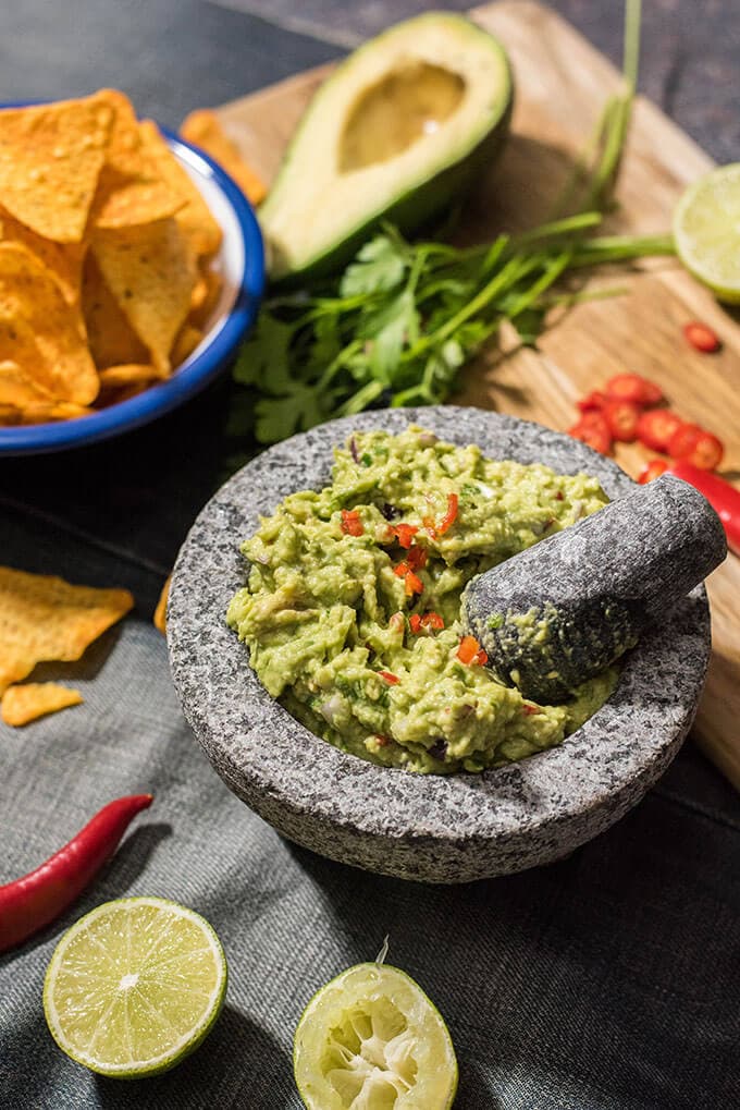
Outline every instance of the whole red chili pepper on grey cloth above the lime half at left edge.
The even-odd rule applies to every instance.
[[[131,819],[151,804],[151,794],[111,801],[45,864],[0,887],[0,952],[63,914],[113,855]]]

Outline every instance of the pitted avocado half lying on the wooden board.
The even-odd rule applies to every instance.
[[[409,233],[498,153],[513,104],[506,51],[427,12],[351,54],[306,109],[260,209],[273,281],[341,269],[381,220]]]

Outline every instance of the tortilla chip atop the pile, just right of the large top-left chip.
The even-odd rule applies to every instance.
[[[174,215],[187,196],[160,172],[145,149],[131,101],[114,89],[101,89],[97,95],[111,109],[113,127],[93,204],[93,225],[131,228]]]

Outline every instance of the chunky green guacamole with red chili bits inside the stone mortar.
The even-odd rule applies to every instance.
[[[458,657],[466,583],[601,508],[596,478],[488,460],[415,426],[353,435],[332,474],[262,518],[227,613],[293,716],[363,759],[445,774],[553,747],[600,708],[614,667],[540,706]]]

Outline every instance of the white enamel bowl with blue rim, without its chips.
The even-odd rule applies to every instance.
[[[265,283],[262,233],[254,211],[239,186],[212,159],[173,132],[163,128],[162,133],[223,231],[221,249],[213,260],[223,287],[202,342],[171,377],[129,401],[77,420],[0,427],[0,455],[87,446],[163,416],[217,377],[254,323]]]

